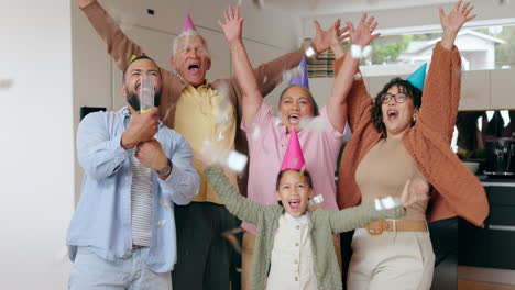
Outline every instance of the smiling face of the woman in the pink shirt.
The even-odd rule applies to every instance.
[[[284,91],[280,102],[281,121],[291,131],[298,131],[303,118],[314,116],[314,104],[309,91],[300,86],[292,86]]]

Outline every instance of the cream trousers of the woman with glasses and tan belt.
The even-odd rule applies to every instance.
[[[383,232],[358,228],[352,238],[349,290],[418,289],[431,286],[435,268],[429,232]]]

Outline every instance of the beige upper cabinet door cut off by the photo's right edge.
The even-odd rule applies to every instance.
[[[490,109],[515,109],[515,69],[491,70]]]

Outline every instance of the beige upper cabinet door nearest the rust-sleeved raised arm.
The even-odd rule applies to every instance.
[[[490,71],[463,71],[461,76],[459,110],[485,110],[490,108]]]

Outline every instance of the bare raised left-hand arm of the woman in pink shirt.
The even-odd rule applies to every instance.
[[[249,55],[241,38],[243,18],[240,18],[240,7],[234,7],[234,10],[229,7],[223,14],[226,23],[218,21],[218,24],[222,27],[231,48],[232,67],[240,83],[242,96],[242,121],[245,126],[250,126],[260,110],[263,96],[258,88],[258,81],[252,70]]]

